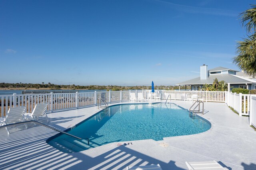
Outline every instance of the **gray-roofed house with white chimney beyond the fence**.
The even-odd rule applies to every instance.
[[[208,66],[200,66],[200,77],[187,80],[176,85],[185,86],[186,90],[202,90],[204,84],[212,84],[214,79],[225,81],[228,91],[232,88],[256,89],[256,78],[238,70],[224,67],[216,67],[208,70]]]

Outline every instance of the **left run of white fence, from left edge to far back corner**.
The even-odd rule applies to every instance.
[[[48,111],[95,106],[98,99],[108,103],[130,100],[131,91],[85,92],[85,93],[48,93],[0,95],[0,117],[4,117],[10,107],[27,106],[31,113],[40,103],[48,103]],[[134,90],[135,92],[135,90]]]

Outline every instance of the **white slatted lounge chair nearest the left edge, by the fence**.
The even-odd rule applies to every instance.
[[[6,113],[5,119],[3,120],[3,124],[8,125],[11,123],[23,122],[24,121],[24,113],[26,111],[27,111],[26,106],[10,107],[10,109]],[[26,129],[28,128],[26,124],[25,124],[25,127],[26,127]],[[10,134],[8,128],[9,127],[6,127],[6,131],[8,134]]]

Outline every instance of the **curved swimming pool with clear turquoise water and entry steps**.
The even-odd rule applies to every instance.
[[[210,129],[205,119],[192,119],[176,104],[122,104],[110,106],[90,117],[68,133],[86,140],[60,135],[48,144],[63,152],[78,152],[108,143],[191,135]]]

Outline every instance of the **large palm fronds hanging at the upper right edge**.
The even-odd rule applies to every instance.
[[[241,22],[248,33],[243,41],[238,41],[236,47],[237,56],[233,63],[247,74],[256,75],[256,5],[240,14]]]

